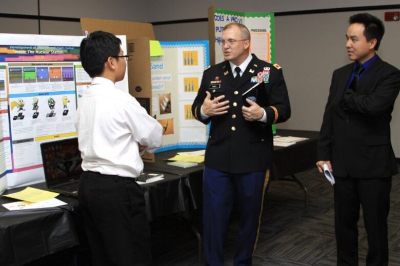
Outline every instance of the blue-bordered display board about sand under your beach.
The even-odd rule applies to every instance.
[[[151,57],[152,113],[163,126],[163,146],[205,148],[208,127],[194,119],[193,100],[209,65],[208,40],[160,42],[164,55]]]

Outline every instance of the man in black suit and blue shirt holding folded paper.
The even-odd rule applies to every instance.
[[[346,49],[354,63],[333,72],[318,139],[317,167],[335,176],[337,265],[358,265],[360,204],[368,235],[367,265],[388,265],[387,217],[397,165],[390,120],[400,89],[400,71],[378,50],[385,28],[370,14],[349,19]]]

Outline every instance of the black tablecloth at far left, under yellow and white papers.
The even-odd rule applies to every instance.
[[[31,187],[44,189],[45,184]],[[4,194],[22,189],[7,190]],[[0,265],[22,265],[79,244],[79,230],[72,217],[77,200],[62,196],[58,198],[68,205],[20,211],[8,211],[0,206]],[[0,197],[0,205],[14,201]]]

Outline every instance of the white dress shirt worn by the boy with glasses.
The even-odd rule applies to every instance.
[[[138,144],[156,149],[162,126],[129,93],[95,77],[76,111],[82,169],[107,175],[137,177],[143,171]]]

